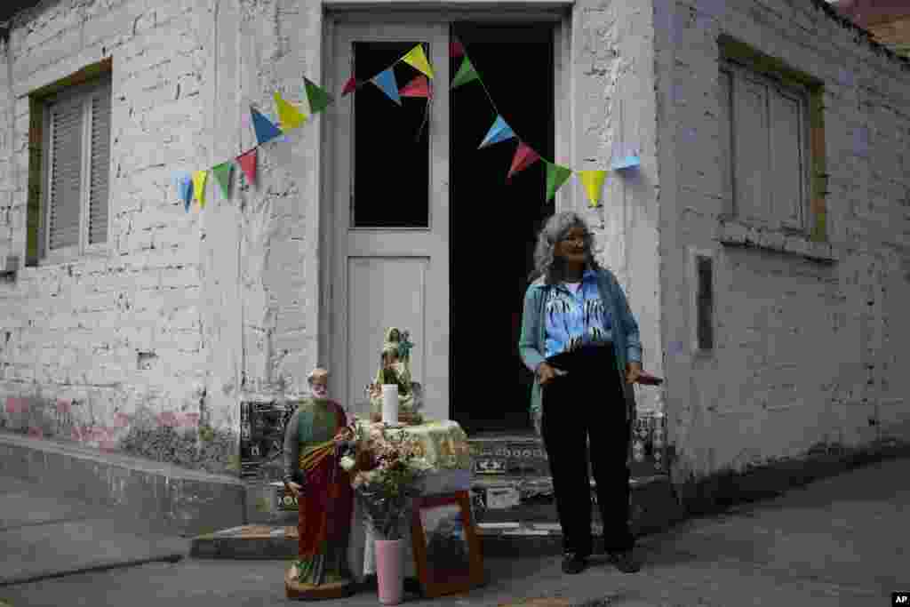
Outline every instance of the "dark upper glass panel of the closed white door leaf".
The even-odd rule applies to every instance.
[[[417,42],[353,43],[354,76],[365,82],[391,66]],[[430,57],[426,43],[424,53]],[[420,76],[399,61],[392,67],[399,90]],[[353,228],[430,226],[430,123],[425,97],[400,97],[398,106],[372,83],[354,93]]]

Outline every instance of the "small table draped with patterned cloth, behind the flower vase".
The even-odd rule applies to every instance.
[[[370,423],[358,420],[364,429]],[[425,420],[419,426],[388,428],[389,436],[405,432],[417,441],[422,456],[430,462],[432,470],[424,477],[420,492],[422,495],[436,495],[454,491],[470,491],[471,459],[468,435],[453,420]],[[404,576],[417,577],[414,551],[410,539],[410,518],[402,525],[401,539],[404,548]],[[349,563],[351,572],[362,581],[376,573],[376,552],[372,526],[369,525],[359,501],[354,502],[350,531]]]

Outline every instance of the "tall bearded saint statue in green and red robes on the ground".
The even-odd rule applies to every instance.
[[[285,576],[289,599],[348,596],[354,582],[348,541],[354,493],[339,466],[349,440],[348,417],[329,399],[329,372],[314,369],[310,397],[300,400],[285,430],[284,482],[298,499],[298,560]]]

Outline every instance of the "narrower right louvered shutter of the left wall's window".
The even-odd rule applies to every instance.
[[[91,164],[88,183],[88,244],[107,241],[108,180],[110,174],[110,90],[101,89],[91,98]]]

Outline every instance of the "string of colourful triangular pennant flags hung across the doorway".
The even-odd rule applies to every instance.
[[[460,68],[451,81],[451,88],[455,89],[459,86],[477,82],[482,86],[484,94],[490,101],[490,106],[492,106],[496,113],[496,119],[493,121],[492,126],[490,126],[487,135],[483,137],[478,149],[483,149],[484,147],[489,147],[511,139],[516,139],[518,141],[518,147],[512,157],[511,167],[509,168],[506,182],[511,183],[512,177],[516,174],[527,167],[531,167],[534,163],[541,161],[546,165],[546,200],[548,202],[556,195],[557,190],[569,180],[572,174],[577,173],[591,207],[600,206],[601,192],[608,171],[603,169],[572,170],[569,167],[562,167],[555,162],[551,162],[550,160],[541,157],[540,154],[532,149],[515,133],[514,130],[512,130],[512,127],[506,122],[505,118],[501,116],[499,110],[496,109],[496,105],[493,103],[490,93],[487,91],[487,87],[484,86],[480,74],[478,74],[477,69],[471,63],[464,46],[457,39],[450,44],[450,56],[455,58],[463,57]],[[401,62],[413,67],[420,72],[420,75],[415,76],[408,84],[399,88],[395,74],[392,70]],[[434,74],[432,66],[430,66],[430,61],[424,53],[423,46],[419,44],[410,49],[405,55],[399,57],[397,61],[379,72],[379,74],[369,78],[369,80],[359,81],[354,76],[351,76],[348,82],[342,87],[341,96],[347,96],[349,93],[355,92],[361,86],[372,84],[377,86],[392,102],[399,106],[401,105],[401,97],[424,97],[428,101],[429,112],[429,103],[433,98],[433,89],[430,80],[432,80],[433,77]],[[309,111],[312,114],[318,114],[319,112],[324,111],[334,102],[333,96],[307,77],[304,77],[304,92],[308,100]],[[256,134],[257,141],[254,147],[242,152],[231,160],[221,162],[209,169],[197,170],[192,173],[187,171],[180,171],[177,173],[174,177],[177,185],[177,195],[184,203],[184,208],[187,212],[189,212],[189,207],[192,205],[193,200],[198,202],[200,209],[205,208],[206,184],[209,172],[214,176],[224,197],[229,198],[235,163],[240,167],[244,177],[246,177],[247,183],[255,183],[258,147],[307,123],[309,116],[304,109],[288,102],[278,92],[274,94],[274,100],[275,113],[278,115],[278,124],[269,120],[268,116],[263,115],[255,107],[250,106],[249,108],[250,122]],[[618,161],[613,162],[611,170],[624,171],[638,167],[639,164],[640,161],[637,155],[626,155]]]

